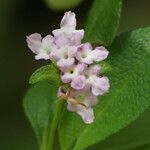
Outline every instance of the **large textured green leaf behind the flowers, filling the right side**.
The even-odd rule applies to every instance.
[[[134,121],[150,105],[150,28],[138,29],[115,39],[109,48],[110,92],[100,97],[95,121],[64,112],[59,126],[61,147],[82,150],[96,144]],[[69,139],[69,141],[68,141]]]

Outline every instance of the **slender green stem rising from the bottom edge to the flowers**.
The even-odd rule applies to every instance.
[[[56,134],[57,126],[58,126],[58,123],[62,114],[63,103],[64,103],[63,100],[58,100],[56,102],[54,118],[51,123],[50,132],[49,132],[48,141],[47,141],[47,150],[53,150],[55,134]]]

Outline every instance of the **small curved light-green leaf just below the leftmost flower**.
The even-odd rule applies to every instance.
[[[53,64],[43,66],[37,69],[30,77],[29,83],[35,84],[40,81],[48,81],[49,83],[59,86],[61,83],[60,72]]]

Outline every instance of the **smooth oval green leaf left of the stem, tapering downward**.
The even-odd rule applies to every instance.
[[[57,89],[47,82],[39,82],[31,87],[24,97],[25,114],[32,124],[39,144],[42,143],[49,118],[53,114]]]

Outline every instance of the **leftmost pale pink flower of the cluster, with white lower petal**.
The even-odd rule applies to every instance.
[[[27,36],[28,47],[36,54],[35,59],[49,59],[49,54],[54,47],[54,38],[51,35],[45,36],[43,39],[40,34],[34,33]]]

